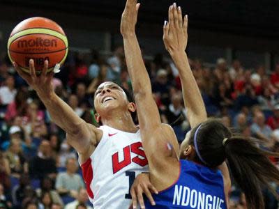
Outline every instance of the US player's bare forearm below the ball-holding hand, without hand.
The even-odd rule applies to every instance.
[[[73,109],[71,109],[66,102],[61,100],[54,92],[48,95],[38,93],[38,96],[43,104],[45,104],[47,111],[50,112],[50,117],[56,125],[69,134],[77,134],[79,126],[84,123],[84,121],[75,114]]]

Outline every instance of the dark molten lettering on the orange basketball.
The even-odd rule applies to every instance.
[[[30,40],[19,40],[17,42],[18,48],[26,48],[26,47],[57,47],[57,41],[55,39],[43,39],[36,38]]]

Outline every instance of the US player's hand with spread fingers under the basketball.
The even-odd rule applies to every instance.
[[[17,73],[38,94],[49,95],[52,91],[54,91],[52,86],[52,77],[54,72],[47,73],[48,61],[44,62],[43,71],[40,73],[40,75],[36,74],[34,61],[32,59],[29,61],[30,74],[23,72],[15,62],[13,62],[13,66],[15,70],[17,70]]]

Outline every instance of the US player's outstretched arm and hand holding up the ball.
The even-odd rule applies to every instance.
[[[29,86],[38,94],[40,100],[50,112],[52,121],[59,125],[66,133],[71,146],[80,154],[89,152],[96,144],[96,134],[99,130],[83,121],[73,109],[59,98],[52,87],[53,72],[47,73],[48,61],[45,61],[43,72],[36,75],[33,60],[30,60],[30,75],[22,72],[17,63],[13,63],[19,75],[27,81]]]

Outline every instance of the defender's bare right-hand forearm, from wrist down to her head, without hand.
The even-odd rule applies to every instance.
[[[179,70],[183,101],[187,108],[190,125],[191,127],[195,127],[198,123],[205,121],[207,118],[202,95],[199,92],[199,87],[190,69],[187,54],[185,52],[174,52],[170,53],[170,55],[172,56],[176,68]]]

